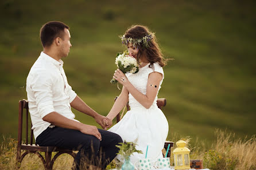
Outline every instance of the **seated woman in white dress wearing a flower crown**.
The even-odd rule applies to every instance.
[[[107,117],[113,120],[129,101],[130,110],[121,121],[108,131],[117,133],[123,141],[134,142],[143,154],[134,153],[131,163],[147,158],[152,163],[162,157],[162,149],[168,135],[168,121],[162,110],[157,107],[157,94],[164,80],[165,65],[156,37],[147,27],[135,25],[121,37],[122,44],[127,46],[129,54],[137,58],[139,72],[123,74],[116,70],[114,78],[123,85],[122,92],[115,101]]]

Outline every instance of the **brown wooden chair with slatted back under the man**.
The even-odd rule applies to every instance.
[[[25,127],[26,127],[25,139],[26,140],[25,140],[25,144],[22,144],[22,123],[23,123],[23,110],[24,109],[26,110],[26,112],[25,112],[25,118],[26,118],[26,120],[25,120]],[[22,160],[28,153],[34,153],[41,159],[42,163],[44,164],[45,170],[51,170],[55,160],[61,154],[68,153],[73,158],[75,158],[76,153],[69,149],[63,149],[63,148],[58,148],[58,147],[39,147],[38,145],[34,144],[33,143],[33,138],[34,138],[33,130],[31,129],[32,124],[31,124],[30,128],[28,129],[28,124],[29,124],[28,113],[29,113],[28,101],[25,99],[20,100],[19,101],[19,117],[18,117],[18,146],[17,146],[17,158],[16,158],[19,163],[22,162]],[[30,133],[29,133],[29,131],[30,131]],[[30,142],[28,141],[28,139],[30,139]],[[25,151],[25,152],[22,153],[22,155],[21,155],[21,151]],[[40,152],[44,152],[45,157],[43,157]],[[56,155],[53,156],[53,158],[52,158],[52,152],[57,152]],[[20,166],[18,168],[20,168]]]

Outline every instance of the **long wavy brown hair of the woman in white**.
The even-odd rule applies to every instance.
[[[129,27],[129,29],[125,32],[126,38],[142,38],[146,35],[152,34],[148,27],[142,26],[142,25],[133,25]],[[166,65],[167,60],[162,56],[161,49],[159,48],[157,44],[156,36],[153,36],[151,41],[148,43],[148,46],[145,47],[141,44],[136,46],[138,48],[138,54],[137,54],[137,62],[139,64],[139,61],[142,57],[146,57],[146,59],[150,62],[150,67],[154,64],[154,62],[158,62],[158,64],[163,67]]]

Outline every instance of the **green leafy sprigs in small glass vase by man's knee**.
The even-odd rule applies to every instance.
[[[117,154],[122,155],[125,159],[129,159],[129,156],[133,155],[134,152],[143,153],[135,148],[137,144],[134,144],[133,142],[125,141],[124,143],[119,144],[120,145],[115,145],[120,149]]]

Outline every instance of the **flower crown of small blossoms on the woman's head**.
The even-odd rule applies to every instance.
[[[147,34],[146,36],[142,37],[142,38],[126,38],[125,34],[123,34],[123,36],[119,36],[122,40],[122,44],[129,44],[132,43],[134,47],[138,46],[139,44],[142,43],[143,46],[145,46],[145,48],[148,48],[149,42],[153,39],[154,37],[154,33],[152,34]]]

